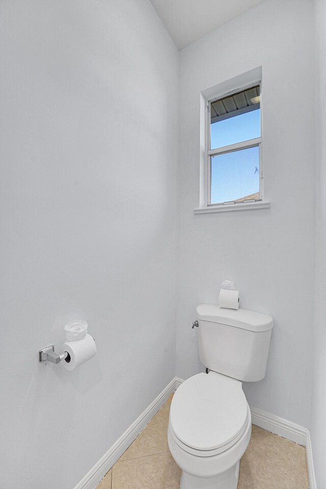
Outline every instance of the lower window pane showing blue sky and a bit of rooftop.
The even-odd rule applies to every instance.
[[[211,157],[211,204],[259,199],[259,146]]]

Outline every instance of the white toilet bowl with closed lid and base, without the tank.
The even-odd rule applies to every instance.
[[[242,383],[217,372],[188,378],[170,408],[168,443],[182,469],[180,489],[236,489],[251,436]]]

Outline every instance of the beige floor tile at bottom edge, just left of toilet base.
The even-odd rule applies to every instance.
[[[112,489],[178,489],[180,469],[170,452],[118,461]]]

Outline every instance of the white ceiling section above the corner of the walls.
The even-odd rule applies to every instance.
[[[151,0],[179,49],[205,36],[262,0]]]

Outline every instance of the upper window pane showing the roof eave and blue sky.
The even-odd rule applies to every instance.
[[[215,100],[210,108],[210,149],[260,138],[260,87]]]

